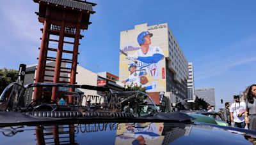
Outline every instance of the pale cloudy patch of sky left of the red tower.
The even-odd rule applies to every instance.
[[[20,63],[35,63],[42,24],[33,1],[0,1],[0,67],[17,68]]]

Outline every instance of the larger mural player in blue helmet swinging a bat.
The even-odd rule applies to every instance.
[[[164,59],[164,55],[163,51],[159,47],[150,46],[150,38],[152,36],[153,34],[148,31],[141,32],[137,38],[137,41],[141,46],[140,50],[137,50],[134,55],[127,55],[126,59],[133,62],[137,61],[136,66],[138,69],[145,69],[148,77],[157,79],[159,76],[158,62]],[[146,87],[147,90],[150,90],[156,87],[156,84],[142,84],[142,86]]]

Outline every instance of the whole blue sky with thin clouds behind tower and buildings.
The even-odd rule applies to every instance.
[[[255,83],[256,1],[91,0],[97,3],[80,41],[79,65],[118,75],[120,31],[168,23],[189,62],[195,87],[214,87],[220,99]],[[33,1],[0,1],[0,68],[36,64],[42,35]]]

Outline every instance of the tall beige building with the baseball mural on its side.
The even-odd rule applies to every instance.
[[[142,55],[140,55],[141,39],[139,39],[141,34],[151,36],[150,48]],[[121,31],[120,52],[120,81],[129,83],[131,78],[135,80],[138,76],[146,76],[148,79],[146,84],[142,84],[141,81],[136,83],[144,86],[147,92],[164,92],[165,96],[170,97],[171,102],[188,98],[188,60],[167,23],[140,24],[135,25],[134,29]],[[154,58],[154,54],[157,54],[158,58],[163,57],[159,60]],[[133,57],[135,61],[132,61]],[[130,68],[134,65],[136,75],[132,76]]]

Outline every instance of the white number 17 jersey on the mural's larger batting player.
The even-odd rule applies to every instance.
[[[137,50],[133,56],[136,58],[152,57],[156,53],[163,55],[163,51],[161,50],[161,48],[149,46],[148,52],[146,54],[143,53],[142,50],[140,49],[140,50]],[[157,78],[157,76],[159,74],[159,70],[157,69],[157,67],[158,67],[157,64],[158,64],[158,62],[157,63],[154,63],[154,62],[146,63],[146,62],[141,62],[140,60],[138,60],[137,67],[138,67],[138,69],[145,69],[148,75],[150,75],[154,78]]]

